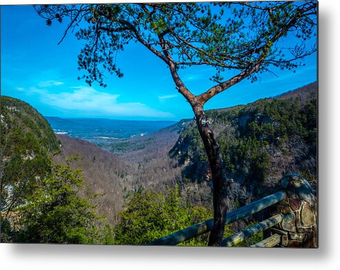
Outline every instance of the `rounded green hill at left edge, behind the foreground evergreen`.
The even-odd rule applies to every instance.
[[[30,105],[1,96],[1,229],[19,227],[18,208],[34,196],[51,170],[48,155],[59,150],[54,132]],[[2,235],[3,238],[3,235]]]

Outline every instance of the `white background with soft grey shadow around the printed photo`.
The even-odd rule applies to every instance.
[[[1,5],[65,2],[3,0]],[[72,1],[94,2],[103,1]],[[319,0],[319,249],[0,244],[1,269],[338,269],[339,3]]]

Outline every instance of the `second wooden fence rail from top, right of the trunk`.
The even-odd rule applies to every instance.
[[[243,242],[244,240],[254,236],[255,234],[264,231],[265,229],[269,229],[270,227],[277,225],[279,222],[281,222],[282,216],[283,216],[282,214],[277,214],[275,216],[272,216],[271,218],[263,220],[262,222],[252,225],[247,229],[243,229],[243,231],[239,231],[238,233],[235,233],[233,236],[223,239],[222,246],[233,247]]]

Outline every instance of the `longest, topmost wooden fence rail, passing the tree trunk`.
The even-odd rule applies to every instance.
[[[261,198],[256,202],[250,203],[249,205],[245,205],[239,209],[230,211],[229,213],[227,213],[226,216],[226,224],[257,213],[267,207],[270,207],[271,205],[274,205],[275,203],[279,203],[284,198],[286,198],[286,192],[278,191],[274,194]],[[211,231],[213,225],[214,219],[210,218],[210,220],[200,222],[186,229],[182,229],[181,231],[177,231],[168,236],[164,236],[152,242],[148,242],[148,244],[146,245],[177,245],[181,242],[185,242],[186,240],[190,240],[191,238]]]

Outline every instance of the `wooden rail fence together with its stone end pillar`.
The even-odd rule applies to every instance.
[[[270,237],[250,247],[317,247],[317,206],[312,187],[299,174],[281,179],[281,191],[261,198],[226,215],[226,225],[275,205],[276,214],[262,222],[222,240],[222,246],[233,247],[261,231],[270,229]],[[212,230],[211,218],[164,236],[146,245],[177,245]],[[267,233],[268,234],[268,233]]]

